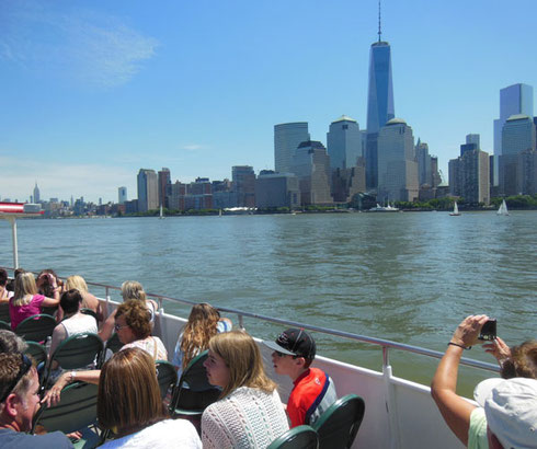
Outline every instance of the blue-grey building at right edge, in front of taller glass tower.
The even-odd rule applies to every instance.
[[[502,154],[498,158],[499,191],[510,196],[521,193],[523,181],[518,174],[518,154],[536,147],[536,131],[533,118],[515,114],[507,118],[502,129]]]

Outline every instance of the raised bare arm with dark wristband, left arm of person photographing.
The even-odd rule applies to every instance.
[[[468,445],[470,415],[476,406],[456,393],[458,368],[464,349],[476,343],[488,319],[487,315],[470,315],[459,324],[431,383],[431,394],[444,421],[465,446]]]

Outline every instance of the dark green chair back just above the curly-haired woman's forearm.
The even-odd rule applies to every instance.
[[[57,361],[64,369],[84,368],[103,350],[103,341],[96,334],[84,333],[61,342],[50,357],[49,366]]]

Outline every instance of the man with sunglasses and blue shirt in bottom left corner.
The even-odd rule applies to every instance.
[[[27,435],[39,408],[39,380],[23,354],[0,354],[0,441],[3,449],[72,448],[60,431]]]

